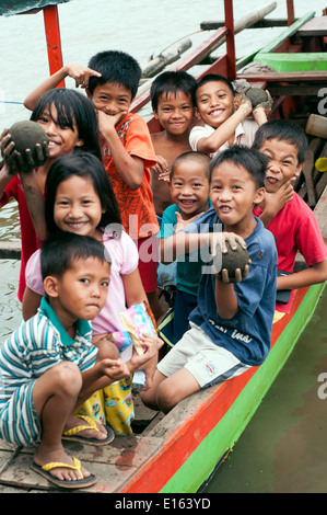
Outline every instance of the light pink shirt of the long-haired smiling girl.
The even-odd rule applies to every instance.
[[[92,321],[93,334],[125,331],[119,313],[126,310],[126,298],[122,276],[131,274],[139,262],[138,250],[131,238],[121,232],[121,238],[114,238],[107,233],[103,236],[103,243],[112,258],[110,284],[107,301]],[[38,295],[44,295],[40,274],[40,250],[37,250],[26,265],[26,286]]]

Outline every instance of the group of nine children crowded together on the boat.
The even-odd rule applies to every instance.
[[[109,50],[37,87],[25,106],[48,136],[49,158],[32,172],[19,169],[8,130],[1,137],[0,205],[13,196],[20,206],[25,322],[0,348],[0,437],[38,444],[33,469],[66,488],[96,479],[61,439],[104,445],[108,424],[130,432],[131,410],[121,412],[136,370],[147,378],[143,402],[168,412],[260,365],[273,321],[290,310],[276,293],[327,278],[314,214],[292,188],[302,129],[267,122],[267,105],[253,110],[222,76],[197,83],[167,71],[151,87],[162,130],[150,135],[130,111],[140,76],[131,56]],[[86,95],[58,89],[66,77]],[[212,264],[227,243],[249,254],[234,283]],[[297,251],[308,268],[293,274]],[[175,289],[167,313],[164,275]],[[148,302],[161,337],[141,335],[143,353],[121,359],[120,313]],[[159,359],[163,341],[170,350]],[[109,409],[87,411],[92,396],[102,407],[120,402],[120,426]]]

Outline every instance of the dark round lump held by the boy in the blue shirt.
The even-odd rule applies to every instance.
[[[218,254],[213,258],[213,265],[215,270],[219,271],[217,274],[218,277],[222,279],[222,270],[225,268],[229,272],[230,283],[236,282],[235,271],[237,268],[241,270],[243,277],[244,267],[248,264],[249,260],[247,249],[244,249],[238,241],[236,241],[236,245],[237,248],[233,250],[230,242],[226,240],[227,252],[222,253],[220,249],[218,249]]]

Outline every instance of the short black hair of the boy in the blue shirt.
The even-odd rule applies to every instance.
[[[212,172],[221,163],[230,161],[236,167],[243,167],[252,175],[257,188],[265,187],[266,170],[269,163],[268,156],[253,148],[233,147],[218,153],[209,165],[209,181],[211,182]]]

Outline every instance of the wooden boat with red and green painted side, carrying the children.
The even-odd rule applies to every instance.
[[[225,0],[225,26],[217,28],[209,41],[182,58],[174,68],[189,69],[201,60],[201,56],[208,55],[213,44],[226,37],[226,55],[214,59],[203,73],[219,72],[232,80],[246,79],[252,84],[269,89],[275,98],[271,116],[292,118],[306,126],[307,113],[322,114],[316,104],[326,84],[327,72],[325,68],[319,68],[320,60],[316,56],[326,46],[327,15],[316,19],[313,14],[291,24],[294,14],[292,1],[288,1],[288,27],[278,39],[236,62],[232,1]],[[327,9],[324,14],[327,14]],[[308,47],[313,50],[312,59],[307,55]],[[308,71],[294,68],[294,62],[303,62],[299,58],[302,50],[311,62]],[[279,60],[280,71],[240,71],[249,62],[265,65],[267,54],[269,62]],[[314,69],[315,65],[317,69]],[[149,93],[144,92],[137,99],[133,110],[140,110],[147,101]],[[149,121],[149,127],[152,131],[160,130],[154,118]],[[317,171],[314,165],[317,158],[327,156],[327,134],[319,137],[308,135],[308,138],[311,174],[302,174],[296,191],[304,199],[308,198],[308,190],[314,195],[316,217],[327,241],[327,173]],[[301,260],[297,266],[303,266]],[[291,312],[273,325],[271,351],[260,367],[185,399],[167,415],[142,408],[136,396],[135,435],[116,437],[110,446],[105,447],[65,444],[70,454],[82,455],[87,469],[97,476],[97,483],[86,491],[124,494],[200,491],[212,471],[233,449],[284,365],[310,321],[324,287],[325,284],[319,284],[296,290]],[[0,440],[0,491],[51,490],[46,480],[30,469],[32,454],[31,448],[15,448]],[[177,504],[171,507],[177,507]]]

